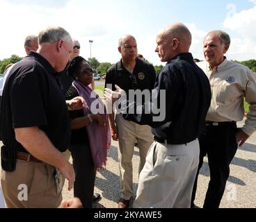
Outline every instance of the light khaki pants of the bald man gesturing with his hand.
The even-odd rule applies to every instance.
[[[154,142],[138,179],[134,208],[190,208],[198,161],[198,139],[180,145]]]

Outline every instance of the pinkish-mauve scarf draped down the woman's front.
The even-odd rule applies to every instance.
[[[105,106],[99,96],[89,86],[85,86],[74,80],[72,85],[77,89],[79,96],[85,99],[88,108],[83,108],[83,114],[86,116],[90,113],[99,113],[106,119],[106,126],[100,127],[97,121],[93,121],[86,126],[88,133],[90,152],[93,157],[93,162],[97,170],[103,169],[106,166],[107,150],[111,146],[111,133],[109,128],[109,119],[105,114]]]

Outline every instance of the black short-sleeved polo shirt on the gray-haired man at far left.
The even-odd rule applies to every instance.
[[[1,134],[3,144],[26,152],[15,139],[14,128],[38,126],[59,151],[70,142],[70,119],[56,71],[31,51],[10,71],[3,89]]]

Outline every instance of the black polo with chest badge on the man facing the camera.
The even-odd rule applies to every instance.
[[[137,58],[133,75],[134,77],[125,69],[120,60],[107,71],[105,87],[107,84],[111,84],[112,88],[109,88],[115,91],[115,85],[118,85],[125,90],[127,96],[129,89],[150,89],[150,91],[154,89],[156,72],[150,63]],[[136,78],[136,83],[134,83],[134,78]]]

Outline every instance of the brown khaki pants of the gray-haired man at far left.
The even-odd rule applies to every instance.
[[[56,194],[54,170],[43,162],[17,160],[15,171],[2,171],[1,186],[7,207],[58,207],[62,195]]]

